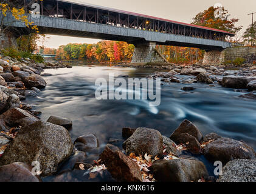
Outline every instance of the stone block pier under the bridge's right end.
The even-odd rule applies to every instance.
[[[225,62],[225,50],[209,50],[204,54],[202,64],[221,65]]]

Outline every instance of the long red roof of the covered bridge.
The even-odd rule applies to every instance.
[[[157,18],[157,17],[154,17],[154,16],[148,16],[148,15],[143,15],[143,14],[139,14],[139,13],[123,11],[123,10],[119,10],[119,9],[116,9],[116,8],[103,7],[101,5],[88,4],[88,3],[84,3],[84,2],[83,3],[81,3],[81,2],[72,2],[72,1],[66,1],[66,0],[57,0],[57,1],[67,2],[67,3],[70,3],[70,4],[83,5],[85,7],[97,8],[97,9],[100,9],[100,10],[107,10],[109,12],[117,12],[117,13],[122,13],[122,14],[126,14],[126,15],[138,16],[138,17],[141,17],[141,18],[155,19],[155,20],[159,20],[159,21],[170,22],[170,23],[173,23],[173,24],[186,25],[186,26],[189,26],[189,27],[201,28],[201,29],[204,29],[204,30],[211,30],[211,31],[214,31],[214,32],[221,32],[221,33],[226,33],[227,35],[230,35],[230,36],[234,36],[233,33],[230,33],[230,32],[224,31],[224,30],[204,27],[204,26],[201,26],[201,25],[187,24],[187,23],[184,23],[184,22],[173,21],[173,20],[170,20],[170,19]]]

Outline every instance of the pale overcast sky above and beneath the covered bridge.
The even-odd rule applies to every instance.
[[[251,15],[248,13],[256,12],[256,0],[69,0],[72,2],[89,3],[102,5],[104,7],[117,8],[130,12],[156,16],[174,21],[191,23],[192,18],[199,12],[206,10],[210,6],[220,3],[229,10],[230,18],[240,19],[237,25],[243,25],[240,34],[251,24]],[[256,20],[256,15],[254,16]],[[254,20],[254,21],[255,21]],[[60,45],[69,43],[97,43],[99,39],[75,38],[69,36],[47,35],[46,41],[38,42],[44,47],[58,49]]]

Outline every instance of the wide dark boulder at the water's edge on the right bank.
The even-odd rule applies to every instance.
[[[249,82],[250,82],[250,79],[248,78],[226,76],[226,77],[223,77],[221,81],[221,85],[223,87],[229,87],[232,89],[247,89],[247,85],[249,84]]]

